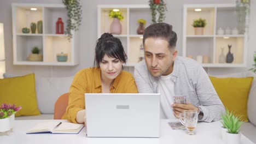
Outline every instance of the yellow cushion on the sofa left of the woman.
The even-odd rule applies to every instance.
[[[34,74],[0,79],[0,104],[21,106],[15,116],[40,115],[37,109]]]

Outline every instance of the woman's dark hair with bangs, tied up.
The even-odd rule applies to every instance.
[[[126,54],[120,39],[113,37],[110,33],[103,33],[101,38],[97,40],[94,58],[95,66],[100,67],[105,54],[109,57],[117,58],[121,62],[126,62]]]

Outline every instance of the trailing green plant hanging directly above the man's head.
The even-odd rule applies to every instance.
[[[152,22],[163,22],[165,20],[165,11],[167,11],[164,0],[149,0],[149,6],[152,14]]]

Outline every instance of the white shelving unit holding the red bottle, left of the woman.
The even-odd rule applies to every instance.
[[[34,3],[13,3],[13,56],[14,65],[77,65],[78,55],[78,33],[72,32],[72,39],[68,40],[65,34],[55,34],[56,21],[62,18],[64,31],[67,26],[67,10],[63,4],[34,4]],[[31,10],[37,8],[37,10]],[[43,21],[43,33],[31,33],[31,22]],[[22,28],[27,27],[30,33],[22,33]],[[39,47],[43,55],[43,61],[28,61],[34,46]],[[58,62],[57,53],[67,53],[67,62]]]

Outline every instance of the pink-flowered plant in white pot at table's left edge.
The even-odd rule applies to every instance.
[[[8,131],[13,128],[14,114],[21,109],[21,106],[15,107],[13,105],[2,104],[0,107],[0,132],[5,132],[8,135]]]

